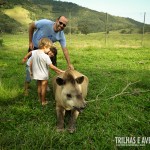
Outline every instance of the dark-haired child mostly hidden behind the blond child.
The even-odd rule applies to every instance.
[[[25,79],[25,86],[24,86],[24,95],[25,96],[28,96],[28,91],[29,91],[29,84],[31,82],[31,76],[30,76],[30,61],[31,61],[31,56],[34,55],[34,51],[36,50],[33,50],[33,51],[30,51],[22,60],[22,63],[25,63],[26,60],[27,60],[27,63],[26,63],[26,79]],[[50,58],[53,58],[53,56],[57,53],[57,49],[52,46],[50,48],[50,51],[47,53],[47,55],[50,57]],[[49,91],[49,87],[47,86],[47,91]]]

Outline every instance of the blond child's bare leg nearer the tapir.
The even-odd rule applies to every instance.
[[[42,81],[41,81],[41,98],[42,98],[42,105],[47,104],[47,101],[45,100],[47,84],[48,84],[48,80],[42,80]]]

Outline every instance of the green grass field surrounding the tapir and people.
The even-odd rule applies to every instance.
[[[36,82],[31,83],[29,96],[23,95],[25,65],[20,62],[27,52],[28,36],[3,35],[0,149],[150,149],[150,139],[143,140],[150,137],[150,35],[145,36],[144,47],[141,47],[141,36],[115,34],[109,35],[105,47],[104,36],[67,36],[74,67],[88,76],[90,82],[87,108],[77,120],[77,131],[69,134],[55,130],[55,102],[50,81],[51,92],[47,93],[50,103],[46,107],[37,100]],[[58,67],[66,69],[60,48]],[[53,75],[51,71],[51,77]],[[129,137],[136,143],[117,146],[116,137]]]

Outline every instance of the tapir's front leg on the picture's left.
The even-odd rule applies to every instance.
[[[57,131],[63,131],[65,109],[63,107],[56,106],[56,112],[57,112]]]

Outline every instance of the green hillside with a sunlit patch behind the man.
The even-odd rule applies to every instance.
[[[70,2],[53,0],[0,0],[0,31],[24,32],[32,21],[47,18],[55,20],[60,15],[69,18],[65,32],[94,33],[106,28],[106,14],[78,6]],[[19,28],[18,28],[19,25]],[[13,27],[13,28],[12,28]],[[142,32],[143,24],[130,18],[108,14],[108,31],[122,30],[124,33]],[[150,32],[150,25],[145,25]]]

